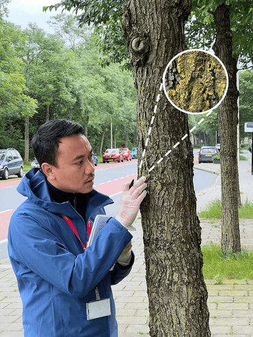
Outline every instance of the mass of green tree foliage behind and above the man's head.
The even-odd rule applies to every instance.
[[[21,31],[3,22],[9,38],[5,34],[7,42],[4,38],[0,41],[0,56],[3,55],[8,62],[2,57],[0,70],[1,67],[5,70],[4,75],[12,87],[10,90],[7,87],[6,91],[5,87],[0,86],[0,98],[5,98],[6,103],[9,95],[12,102],[1,105],[0,100],[0,146],[13,146],[24,157],[25,120],[22,116],[24,113],[31,116],[34,109],[27,102],[26,110],[14,104],[19,82],[25,90],[25,98],[37,101],[38,113],[30,117],[29,122],[30,140],[38,126],[46,121],[48,108],[49,119],[71,118],[81,123],[97,154],[100,152],[103,131],[105,139],[102,150],[110,147],[111,122],[116,146],[126,146],[127,139],[129,148],[135,146],[136,92],[133,73],[122,72],[118,64],[101,68],[101,54],[92,30],[84,26],[78,29],[75,16],[57,15],[51,19],[51,25],[56,27],[55,35],[39,29],[36,24],[30,24]],[[10,29],[14,33],[11,43],[8,43]],[[18,72],[15,72],[16,69]],[[33,159],[31,151],[29,158]]]

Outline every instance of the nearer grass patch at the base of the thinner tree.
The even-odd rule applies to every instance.
[[[211,242],[201,247],[204,266],[204,278],[215,280],[216,284],[222,282],[222,278],[252,279],[253,278],[253,252],[242,250],[241,253],[227,253],[222,255],[220,245]]]

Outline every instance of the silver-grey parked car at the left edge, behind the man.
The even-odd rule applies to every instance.
[[[23,159],[18,150],[7,148],[0,150],[0,176],[7,180],[10,174],[23,177]]]

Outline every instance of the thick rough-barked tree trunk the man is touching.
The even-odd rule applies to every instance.
[[[148,183],[141,213],[152,337],[211,336],[187,114],[159,91],[168,62],[185,49],[190,10],[190,0],[127,0],[122,9],[137,90],[138,176]]]

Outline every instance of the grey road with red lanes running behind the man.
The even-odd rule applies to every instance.
[[[114,204],[105,208],[107,214],[115,216],[120,202],[124,183],[137,179],[137,160],[124,163],[98,164],[95,171],[94,189],[105,193],[114,200]],[[194,170],[195,191],[201,191],[215,183],[216,176],[207,172]],[[0,180],[0,259],[8,257],[7,235],[10,217],[15,209],[26,199],[16,191],[21,180]]]

